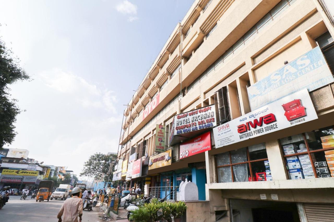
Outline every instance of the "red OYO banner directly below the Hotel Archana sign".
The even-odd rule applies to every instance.
[[[203,133],[180,144],[180,159],[211,150],[210,132]]]

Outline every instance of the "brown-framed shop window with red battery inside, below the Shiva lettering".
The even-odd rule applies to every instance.
[[[215,162],[218,183],[272,180],[263,143],[217,154]]]

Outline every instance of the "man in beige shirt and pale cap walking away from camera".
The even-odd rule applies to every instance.
[[[80,189],[74,187],[72,189],[72,197],[66,199],[63,205],[61,206],[57,218],[58,222],[61,222],[61,216],[63,216],[64,222],[79,222],[82,220],[82,199],[79,198]]]

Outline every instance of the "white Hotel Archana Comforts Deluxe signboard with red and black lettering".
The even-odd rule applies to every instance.
[[[216,125],[215,106],[205,106],[174,116],[174,136]]]

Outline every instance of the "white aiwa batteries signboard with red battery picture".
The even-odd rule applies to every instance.
[[[307,89],[213,128],[216,148],[318,119]]]

